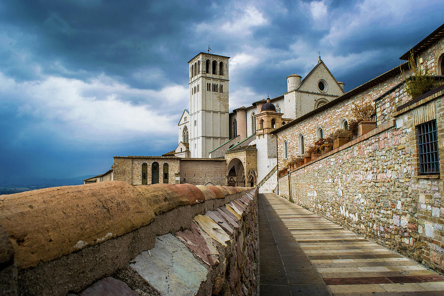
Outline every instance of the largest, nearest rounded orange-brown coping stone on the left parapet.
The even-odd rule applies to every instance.
[[[0,225],[23,269],[149,224],[151,203],[118,181],[43,188],[1,195]]]

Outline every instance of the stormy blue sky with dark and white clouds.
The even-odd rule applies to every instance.
[[[0,184],[97,175],[176,148],[197,53],[229,56],[230,111],[322,60],[345,90],[402,61],[442,0],[0,2]]]

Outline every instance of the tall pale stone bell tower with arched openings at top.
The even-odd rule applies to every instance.
[[[191,157],[208,158],[229,139],[228,59],[201,52],[188,62]]]

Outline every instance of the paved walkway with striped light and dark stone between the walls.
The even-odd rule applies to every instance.
[[[274,194],[259,194],[261,296],[444,296],[444,277]]]

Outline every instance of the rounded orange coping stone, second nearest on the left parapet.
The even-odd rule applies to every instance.
[[[135,188],[140,192],[141,198],[148,203],[148,208],[157,216],[190,204],[191,198],[189,198],[189,195],[192,193],[186,187],[176,186],[173,184],[153,184],[135,186]]]

